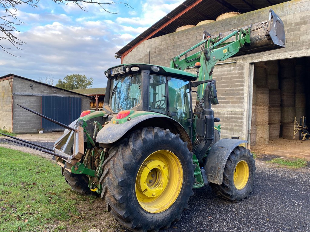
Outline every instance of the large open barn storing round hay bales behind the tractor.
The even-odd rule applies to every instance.
[[[213,109],[223,138],[239,137],[252,145],[293,139],[294,117],[310,117],[310,1],[186,0],[116,55],[122,63],[169,67],[170,59],[200,42],[205,30],[219,35],[262,22],[271,8],[284,23],[286,47],[218,62],[213,78],[219,105]],[[230,11],[240,14],[217,19]]]

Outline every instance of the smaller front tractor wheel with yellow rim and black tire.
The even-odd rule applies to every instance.
[[[252,191],[255,169],[255,160],[250,150],[237,146],[226,161],[223,183],[220,185],[210,183],[209,185],[218,197],[239,202]]]

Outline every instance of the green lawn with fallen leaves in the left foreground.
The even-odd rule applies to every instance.
[[[58,165],[0,147],[0,167],[0,231],[44,231],[46,224],[78,216],[74,205],[86,197],[71,190]]]

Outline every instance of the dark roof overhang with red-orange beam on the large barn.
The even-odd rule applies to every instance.
[[[215,20],[219,15],[235,11],[246,13],[264,7],[273,6],[287,0],[186,0],[165,17],[153,24],[133,39],[116,54],[121,57],[128,54],[142,41],[166,35],[184,25],[197,25],[200,21]]]

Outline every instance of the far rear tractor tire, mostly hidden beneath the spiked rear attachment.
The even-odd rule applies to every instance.
[[[88,187],[88,178],[85,174],[73,174],[63,167],[61,167],[61,173],[64,176],[65,181],[70,185],[70,187],[86,196],[94,196],[97,195],[96,192],[93,192]]]

